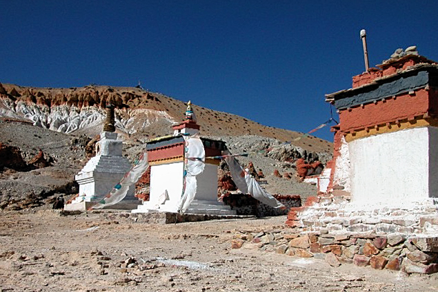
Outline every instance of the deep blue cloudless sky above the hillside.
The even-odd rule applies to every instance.
[[[0,0],[0,82],[135,86],[308,132],[324,94],[417,45],[438,61],[438,1]],[[315,136],[332,140],[328,127]]]

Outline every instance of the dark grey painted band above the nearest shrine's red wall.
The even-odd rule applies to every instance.
[[[337,110],[344,110],[348,107],[354,107],[355,105],[371,103],[373,101],[378,101],[381,98],[387,98],[411,90],[416,90],[426,86],[428,83],[429,72],[419,71],[415,75],[401,76],[395,81],[377,85],[377,87],[370,88],[368,92],[361,92],[360,94],[345,96],[340,99],[335,98],[335,107]]]

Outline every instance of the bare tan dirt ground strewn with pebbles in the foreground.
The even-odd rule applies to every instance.
[[[0,212],[1,291],[438,290],[437,275],[231,249],[236,231],[285,229],[285,216],[150,225],[104,215]]]

